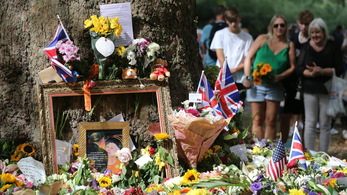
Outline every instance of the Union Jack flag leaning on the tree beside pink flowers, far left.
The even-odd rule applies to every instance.
[[[65,43],[68,40],[70,40],[70,38],[67,35],[64,26],[59,22],[57,32],[54,34],[52,42],[44,48],[48,58],[51,60],[51,66],[65,82],[67,82],[67,77],[72,77],[73,75],[68,68],[58,61],[56,44],[58,41]]]

